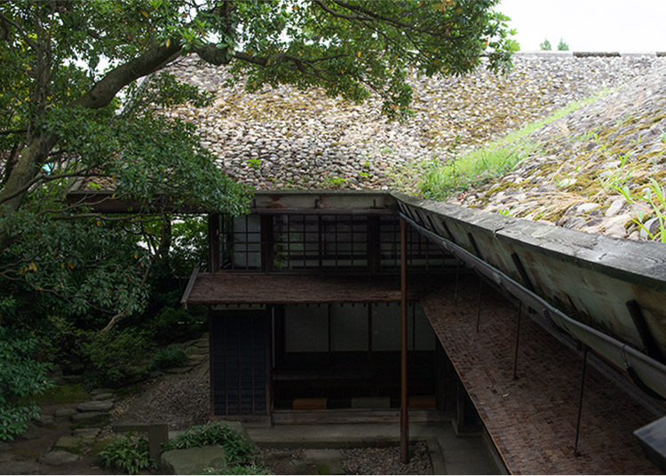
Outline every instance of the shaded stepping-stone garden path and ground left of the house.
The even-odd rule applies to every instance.
[[[155,372],[153,378],[143,384],[145,389],[139,396],[133,395],[121,400],[113,389],[97,388],[88,393],[82,401],[44,404],[42,415],[38,420],[29,422],[26,432],[20,434],[15,441],[0,441],[0,473],[113,473],[95,465],[95,459],[101,449],[100,441],[112,436],[110,423],[119,417],[132,417],[133,413],[128,413],[128,409],[141,413],[142,409],[147,407],[146,411],[160,421],[177,422],[179,427],[192,424],[190,407],[201,407],[201,401],[183,394],[180,401],[174,402],[170,396],[173,397],[178,392],[171,390],[173,385],[183,382],[186,386],[198,382],[207,387],[208,380],[203,377],[203,373],[208,369],[208,334],[176,345],[186,350],[186,365]],[[54,376],[55,383],[72,385],[82,382],[83,367],[73,370],[69,369],[65,376],[61,372],[57,373]],[[205,394],[206,397],[208,395],[198,393]],[[169,404],[170,408],[165,410],[164,405]],[[208,402],[204,405],[206,417],[207,405]]]

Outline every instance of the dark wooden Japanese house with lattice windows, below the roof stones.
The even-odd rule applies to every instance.
[[[211,417],[425,409],[509,472],[666,471],[662,244],[326,191],[258,192],[209,239],[182,302],[209,308]]]

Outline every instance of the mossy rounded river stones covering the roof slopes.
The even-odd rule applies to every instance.
[[[666,59],[654,54],[583,58],[517,54],[514,68],[505,76],[481,67],[458,78],[411,77],[415,114],[404,122],[390,123],[380,115],[381,101],[377,97],[357,105],[329,98],[321,90],[297,91],[284,85],[247,93],[243,83],[225,87],[230,78],[226,67],[213,67],[188,57],[170,70],[186,82],[214,92],[217,99],[211,107],[180,107],[166,114],[197,123],[203,145],[218,157],[218,164],[227,175],[258,190],[414,192],[420,171],[428,163],[447,160],[465,149],[502,137],[597,91],[626,87],[637,81],[642,81],[645,89],[645,78],[651,72],[654,75],[661,71],[665,64]],[[637,103],[626,91],[622,88],[611,95],[613,99],[603,103],[603,113],[591,113],[591,107],[583,107],[574,122],[559,121],[537,132],[538,139],[559,147],[520,163],[519,170],[506,178],[511,186],[505,184],[502,190],[496,188],[493,192],[490,187],[496,184],[490,184],[449,201],[595,233],[610,229],[616,236],[630,235],[626,232],[634,230],[625,226],[632,218],[628,210],[615,211],[610,217],[604,215],[621,198],[618,194],[608,192],[591,201],[584,190],[576,193],[576,188],[589,185],[590,178],[596,181],[596,175],[589,175],[587,181],[579,179],[576,187],[572,171],[558,170],[557,177],[552,171],[539,173],[543,164],[552,167],[553,163],[567,163],[571,156],[581,158],[562,147],[558,138],[572,142],[571,137],[600,127],[602,123],[596,121],[599,117],[605,124],[616,123],[622,119],[618,115],[630,114],[626,106],[663,106],[663,102],[654,103],[663,92],[652,98],[641,97]],[[654,107],[650,110],[654,114]],[[649,146],[661,147],[658,140]],[[600,159],[607,167],[597,167],[598,173],[609,167],[609,173],[613,173],[614,157]],[[591,164],[588,167],[593,168]],[[526,178],[532,186],[519,186]],[[588,202],[598,206],[583,206],[584,213],[578,213],[581,205]],[[615,204],[614,208],[618,206]],[[594,210],[599,211],[590,217]],[[562,220],[565,216],[567,219]],[[638,238],[638,232],[631,237]]]

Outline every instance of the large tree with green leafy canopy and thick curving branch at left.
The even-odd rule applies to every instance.
[[[195,126],[160,114],[212,100],[163,72],[179,57],[228,65],[250,91],[288,83],[354,101],[377,94],[395,118],[408,115],[412,71],[464,75],[483,56],[493,70],[511,66],[498,2],[2,2],[0,279],[15,287],[4,289],[50,293],[73,313],[128,315],[168,255],[174,208],[247,210],[250,191],[218,170]],[[146,207],[105,216],[65,200],[74,183],[111,187],[99,201]]]

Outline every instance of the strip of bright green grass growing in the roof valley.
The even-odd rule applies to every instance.
[[[467,190],[470,186],[503,176],[513,170],[520,160],[539,150],[539,145],[535,140],[529,139],[529,134],[572,113],[579,107],[591,104],[609,92],[611,90],[600,91],[590,98],[571,102],[548,117],[528,123],[519,131],[510,132],[486,147],[458,155],[446,163],[430,163],[419,182],[419,192],[425,198],[444,200],[451,194]]]

